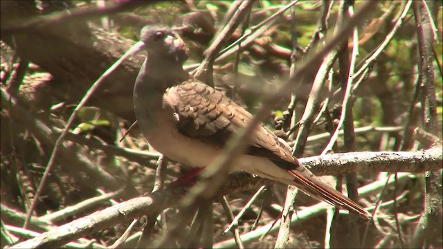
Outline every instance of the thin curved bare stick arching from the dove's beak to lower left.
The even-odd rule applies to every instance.
[[[120,57],[120,59],[118,59],[111,67],[109,67],[108,70],[105,71],[105,73],[103,73],[98,78],[98,80],[92,84],[91,88],[89,88],[87,93],[85,93],[82,100],[80,100],[80,102],[78,103],[77,107],[75,107],[73,113],[71,113],[71,116],[69,117],[68,121],[66,122],[66,126],[64,127],[62,133],[60,134],[60,136],[58,136],[57,140],[55,140],[55,145],[54,145],[53,151],[51,153],[51,157],[49,158],[48,164],[46,165],[46,169],[44,171],[42,180],[39,183],[37,193],[35,194],[35,198],[33,200],[33,203],[30,206],[30,209],[26,213],[26,220],[24,222],[23,228],[26,228],[28,226],[30,216],[33,213],[33,210],[35,209],[35,206],[37,205],[37,201],[39,199],[39,196],[42,194],[44,183],[46,183],[46,179],[48,178],[49,173],[51,172],[51,169],[54,165],[54,160],[55,160],[55,156],[57,155],[57,151],[59,150],[60,146],[62,145],[62,142],[64,140],[64,137],[66,136],[66,133],[68,132],[69,127],[71,127],[75,117],[77,116],[78,110],[80,110],[84,106],[84,104],[86,104],[86,102],[89,100],[89,98],[91,98],[92,94],[98,89],[98,87],[103,82],[103,80],[105,80],[105,77],[110,75],[118,67],[118,65],[120,65],[127,57],[138,52],[138,50],[140,50],[140,48],[141,48],[140,43],[138,43],[138,46],[134,45],[131,49],[129,49],[127,51],[127,53],[125,53],[125,55]]]

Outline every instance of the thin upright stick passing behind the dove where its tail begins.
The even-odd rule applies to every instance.
[[[289,68],[289,77],[293,77],[296,71],[296,47],[297,47],[297,39],[296,39],[296,12],[295,7],[291,8],[291,65]],[[293,98],[294,107],[295,107],[295,95],[292,94],[291,98]],[[291,117],[293,117],[293,110],[291,110]],[[289,120],[289,124],[291,124],[293,118]],[[295,149],[293,150],[295,152]],[[282,212],[282,225],[280,225],[280,230],[278,230],[277,239],[275,241],[275,248],[286,248],[289,242],[289,234],[290,234],[290,225],[291,225],[291,216],[293,214],[293,203],[296,199],[298,193],[298,189],[294,186],[288,186],[286,197],[284,200],[284,209]]]

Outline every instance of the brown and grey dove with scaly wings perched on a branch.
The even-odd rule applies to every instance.
[[[208,167],[230,136],[253,116],[183,69],[190,50],[175,30],[145,26],[140,40],[147,57],[136,77],[133,98],[141,133],[164,156]],[[291,154],[291,147],[263,124],[255,128],[246,152],[233,159],[229,171],[239,170],[293,185],[314,199],[371,218],[361,205],[311,173]]]

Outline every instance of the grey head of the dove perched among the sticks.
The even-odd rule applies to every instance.
[[[164,26],[145,26],[140,33],[148,57],[152,55],[183,64],[189,56],[189,48],[177,32]]]

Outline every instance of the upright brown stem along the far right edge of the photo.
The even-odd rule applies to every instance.
[[[437,8],[436,2],[431,9]],[[414,1],[413,10],[415,25],[417,26],[418,48],[420,56],[419,74],[420,86],[422,87],[422,122],[425,131],[434,133],[435,136],[441,132],[437,119],[435,86],[433,73],[432,46],[433,37],[431,34],[431,20],[426,18],[423,8],[420,10],[420,2]],[[432,11],[431,11],[432,12]],[[442,238],[442,183],[441,171],[426,172],[424,211],[417,223],[414,236],[411,242],[412,247],[429,247],[437,245],[437,241]],[[431,243],[431,245],[429,245]]]

